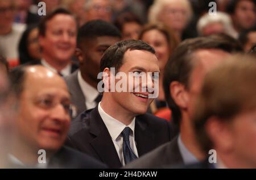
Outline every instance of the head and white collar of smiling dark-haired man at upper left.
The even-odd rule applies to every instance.
[[[42,60],[46,66],[61,76],[68,76],[78,68],[71,59],[76,49],[77,23],[65,9],[56,9],[39,24],[39,44]]]

